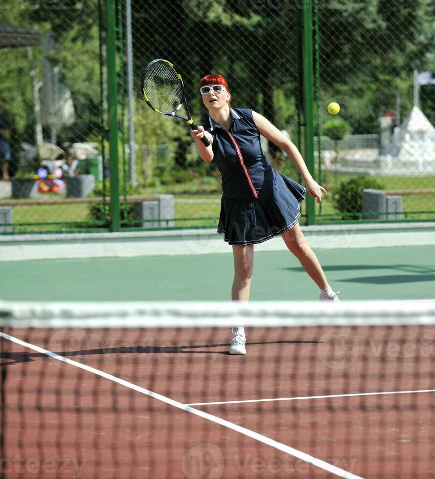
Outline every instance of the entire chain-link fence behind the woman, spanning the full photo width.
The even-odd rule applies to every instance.
[[[107,69],[109,6],[116,71]],[[152,8],[145,0],[3,0],[0,231],[110,230],[114,113],[121,228],[214,227],[219,173],[199,158],[182,122],[142,100],[142,69],[155,58],[174,63],[197,123],[206,121],[199,79],[224,75],[232,106],[266,116],[305,157],[306,8],[313,13],[313,174],[328,191],[316,221],[434,218],[430,0],[177,0]],[[330,102],[340,104],[338,115],[327,112]],[[263,149],[275,169],[300,180],[275,145],[264,141]]]

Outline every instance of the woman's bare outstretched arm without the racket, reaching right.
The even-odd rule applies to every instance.
[[[262,134],[269,141],[272,141],[272,143],[274,143],[281,150],[286,152],[287,156],[301,174],[308,193],[314,198],[317,198],[317,202],[320,203],[322,194],[327,192],[322,186],[314,181],[296,146],[288,138],[286,138],[281,131],[272,125],[267,118],[260,115],[256,111],[252,111],[252,119],[254,120],[260,134]]]

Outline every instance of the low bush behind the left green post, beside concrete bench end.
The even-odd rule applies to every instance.
[[[109,180],[108,180],[109,181]],[[108,190],[107,186],[107,190]],[[88,212],[88,217],[92,221],[104,221],[104,227],[108,228],[110,226],[110,196],[109,196],[109,191],[104,192],[103,190],[103,183],[97,183],[95,185],[95,188],[93,189],[91,193],[91,197],[103,197],[104,193],[106,193],[106,199],[107,202],[105,205],[102,203],[96,203],[96,204],[90,204],[89,205],[89,212]],[[141,195],[142,189],[138,186],[133,186],[131,183],[127,183],[126,187],[126,194],[127,196],[130,195]],[[121,184],[119,186],[119,199],[121,203],[121,221],[125,219],[136,219],[135,218],[135,203],[127,203],[124,205],[123,202],[123,196],[124,196],[124,185]],[[135,225],[132,225],[135,226]],[[137,226],[137,225],[136,225]]]

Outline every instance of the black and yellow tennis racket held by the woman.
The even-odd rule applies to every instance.
[[[143,70],[142,94],[148,106],[157,113],[181,118],[192,130],[198,130],[187,108],[183,80],[172,63],[160,58]],[[182,107],[185,116],[179,114]],[[201,141],[206,146],[210,145],[206,136]]]

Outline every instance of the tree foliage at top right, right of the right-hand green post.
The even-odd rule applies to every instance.
[[[352,106],[352,132],[377,133],[377,119],[396,108],[396,94],[402,114],[412,109],[414,68],[435,70],[434,1],[319,3],[321,99]],[[430,105],[422,106],[429,115]]]

